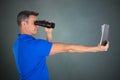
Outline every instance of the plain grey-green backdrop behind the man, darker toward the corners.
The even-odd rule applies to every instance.
[[[47,57],[51,80],[120,80],[119,0],[1,0],[0,80],[19,80],[12,48],[19,33],[16,16],[22,10],[55,21],[54,42],[94,46],[100,41],[101,25],[110,25],[108,52]],[[45,39],[42,27],[35,37]]]

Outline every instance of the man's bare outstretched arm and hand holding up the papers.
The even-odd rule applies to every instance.
[[[107,51],[109,48],[109,42],[106,46],[83,46],[78,44],[64,44],[64,43],[53,43],[50,55],[57,53],[69,52],[69,53],[87,53],[87,52],[100,52]]]

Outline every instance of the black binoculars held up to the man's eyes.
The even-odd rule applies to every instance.
[[[55,23],[50,23],[45,20],[37,20],[34,24],[46,28],[55,28]]]

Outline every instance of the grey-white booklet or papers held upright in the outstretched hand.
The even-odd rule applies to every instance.
[[[109,36],[109,25],[103,24],[101,25],[101,39],[100,39],[100,45],[106,45],[108,41]]]

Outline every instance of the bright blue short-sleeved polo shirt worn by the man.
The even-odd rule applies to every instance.
[[[13,50],[21,80],[49,80],[46,56],[51,47],[52,43],[46,40],[18,34]]]

